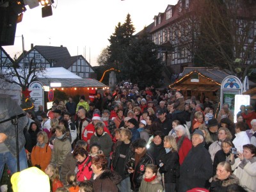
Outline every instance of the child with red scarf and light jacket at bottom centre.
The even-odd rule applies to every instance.
[[[158,174],[157,174],[158,173]],[[141,181],[139,192],[161,192],[163,186],[161,183],[161,175],[157,172],[157,166],[148,164],[146,166],[143,180]]]

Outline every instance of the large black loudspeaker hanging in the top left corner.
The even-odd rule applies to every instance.
[[[14,45],[18,15],[0,7],[0,46]]]

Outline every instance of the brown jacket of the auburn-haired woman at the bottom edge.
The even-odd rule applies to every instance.
[[[104,170],[96,179],[93,181],[94,192],[118,192],[116,184],[122,180],[122,177],[115,172],[110,170]]]

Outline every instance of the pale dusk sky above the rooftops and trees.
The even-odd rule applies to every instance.
[[[54,0],[52,16],[42,18],[38,6],[24,13],[17,24],[15,44],[4,46],[13,58],[22,52],[24,36],[25,50],[31,44],[67,47],[71,56],[84,56],[92,66],[97,65],[97,57],[109,45],[108,38],[115,32],[118,22],[125,22],[127,13],[131,15],[136,33],[154,21],[154,16],[164,12],[168,4],[177,0]]]

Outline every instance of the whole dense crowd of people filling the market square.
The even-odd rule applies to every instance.
[[[208,97],[124,83],[40,106],[23,133],[53,192],[256,191],[256,113],[241,106],[233,118]]]

